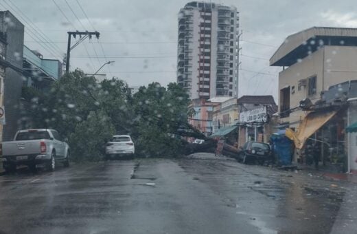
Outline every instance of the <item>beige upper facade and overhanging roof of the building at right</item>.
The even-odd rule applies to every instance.
[[[357,29],[310,28],[287,37],[270,58],[279,73],[280,125],[296,128],[306,111],[300,101],[319,100],[330,86],[357,78]]]

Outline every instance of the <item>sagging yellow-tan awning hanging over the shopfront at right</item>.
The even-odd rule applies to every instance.
[[[310,112],[299,125],[299,131],[286,129],[286,136],[294,141],[297,149],[302,149],[306,140],[319,130],[328,120],[330,120],[337,111],[314,111]]]

